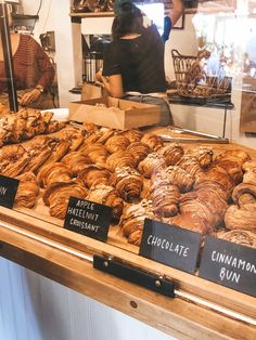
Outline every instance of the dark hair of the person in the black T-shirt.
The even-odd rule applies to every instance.
[[[140,9],[130,2],[121,5],[121,15],[114,18],[112,25],[113,39],[118,39],[127,34],[141,34],[143,30],[143,18]]]

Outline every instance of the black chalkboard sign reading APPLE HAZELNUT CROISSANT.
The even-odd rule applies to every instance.
[[[69,197],[64,227],[105,241],[112,218],[112,208],[87,199]]]

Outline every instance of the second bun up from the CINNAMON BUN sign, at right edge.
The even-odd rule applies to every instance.
[[[225,214],[225,223],[228,230],[244,230],[256,232],[256,206],[253,210],[240,209],[232,205]]]

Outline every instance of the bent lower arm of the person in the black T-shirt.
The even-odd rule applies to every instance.
[[[102,83],[107,93],[114,97],[123,97],[124,89],[121,75],[102,76],[102,70],[97,73],[95,79]]]

